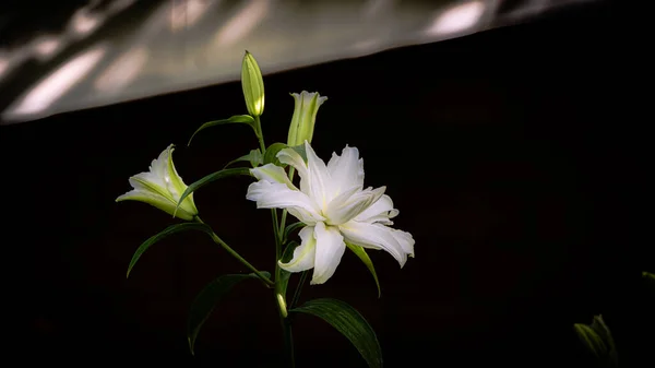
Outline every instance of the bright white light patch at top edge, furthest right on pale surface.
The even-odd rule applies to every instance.
[[[484,12],[485,3],[481,1],[455,5],[441,12],[426,33],[431,36],[441,36],[471,29],[478,24]]]

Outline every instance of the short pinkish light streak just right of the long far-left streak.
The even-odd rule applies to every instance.
[[[94,83],[104,93],[118,93],[139,76],[150,52],[145,47],[131,49],[109,66]]]

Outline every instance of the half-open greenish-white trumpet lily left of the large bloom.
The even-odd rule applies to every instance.
[[[172,215],[180,197],[187,190],[187,185],[172,164],[172,151],[175,149],[170,144],[159,154],[159,157],[153,159],[150,171],[131,177],[130,185],[133,189],[117,198],[116,201],[144,202]],[[198,209],[191,193],[180,203],[176,217],[189,221],[195,215]]]

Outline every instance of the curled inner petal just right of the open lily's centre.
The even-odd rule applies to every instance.
[[[359,190],[358,187],[354,187],[356,192],[352,190],[343,192],[323,210],[323,214],[329,218],[330,225],[345,224],[355,216],[359,215],[362,211],[376,203],[386,187],[380,187],[374,190]]]

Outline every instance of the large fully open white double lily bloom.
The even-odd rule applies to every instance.
[[[313,270],[311,284],[323,284],[336,270],[346,249],[344,241],[369,249],[382,249],[401,264],[414,257],[414,238],[409,233],[389,227],[398,214],[385,187],[364,189],[364,161],[356,147],[342,155],[332,154],[325,163],[305,141],[307,163],[293,149],[279,151],[277,158],[296,168],[300,189],[284,169],[273,164],[250,171],[259,180],[248,188],[247,199],[258,209],[286,209],[307,225],[300,230],[301,244],[288,263],[279,266],[289,272]]]

